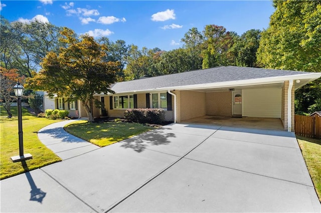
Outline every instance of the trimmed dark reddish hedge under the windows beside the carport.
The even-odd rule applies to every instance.
[[[124,112],[124,118],[129,122],[160,124],[165,119],[162,108],[129,108]]]

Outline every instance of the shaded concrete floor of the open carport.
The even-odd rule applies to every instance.
[[[224,125],[242,128],[257,128],[267,130],[284,131],[284,127],[280,118],[265,117],[224,117],[205,115],[191,119],[183,120],[181,123],[197,123],[210,125]]]

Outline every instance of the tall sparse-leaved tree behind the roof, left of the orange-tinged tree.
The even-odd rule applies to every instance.
[[[203,35],[196,27],[189,29],[188,32],[185,33],[184,38],[181,39],[183,41],[184,47],[189,52],[189,56],[191,57],[190,69],[196,70],[202,68],[202,43],[203,43]]]

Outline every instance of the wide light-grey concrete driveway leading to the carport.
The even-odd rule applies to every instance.
[[[1,181],[6,212],[320,210],[285,131],[171,124]]]

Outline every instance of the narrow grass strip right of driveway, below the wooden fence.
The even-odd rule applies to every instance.
[[[321,201],[321,139],[296,135],[316,193]]]

